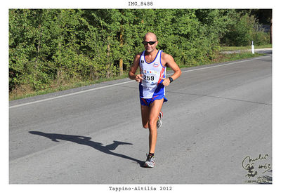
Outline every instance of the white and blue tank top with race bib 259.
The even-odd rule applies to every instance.
[[[153,98],[157,95],[165,95],[165,86],[162,79],[166,77],[166,67],[161,63],[162,51],[158,51],[153,62],[145,61],[145,51],[141,54],[140,67],[143,80],[140,83],[141,98]]]

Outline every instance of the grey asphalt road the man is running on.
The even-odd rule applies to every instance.
[[[182,71],[166,88],[155,168],[141,167],[148,130],[135,81],[11,101],[10,183],[270,182],[271,55]]]

